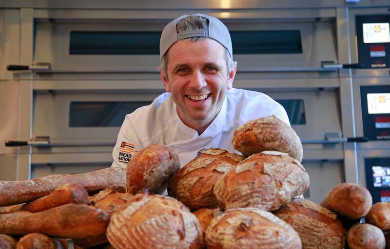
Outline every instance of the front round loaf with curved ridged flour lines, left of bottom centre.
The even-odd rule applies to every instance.
[[[202,229],[196,216],[172,197],[137,194],[111,216],[111,245],[120,249],[201,248]]]

